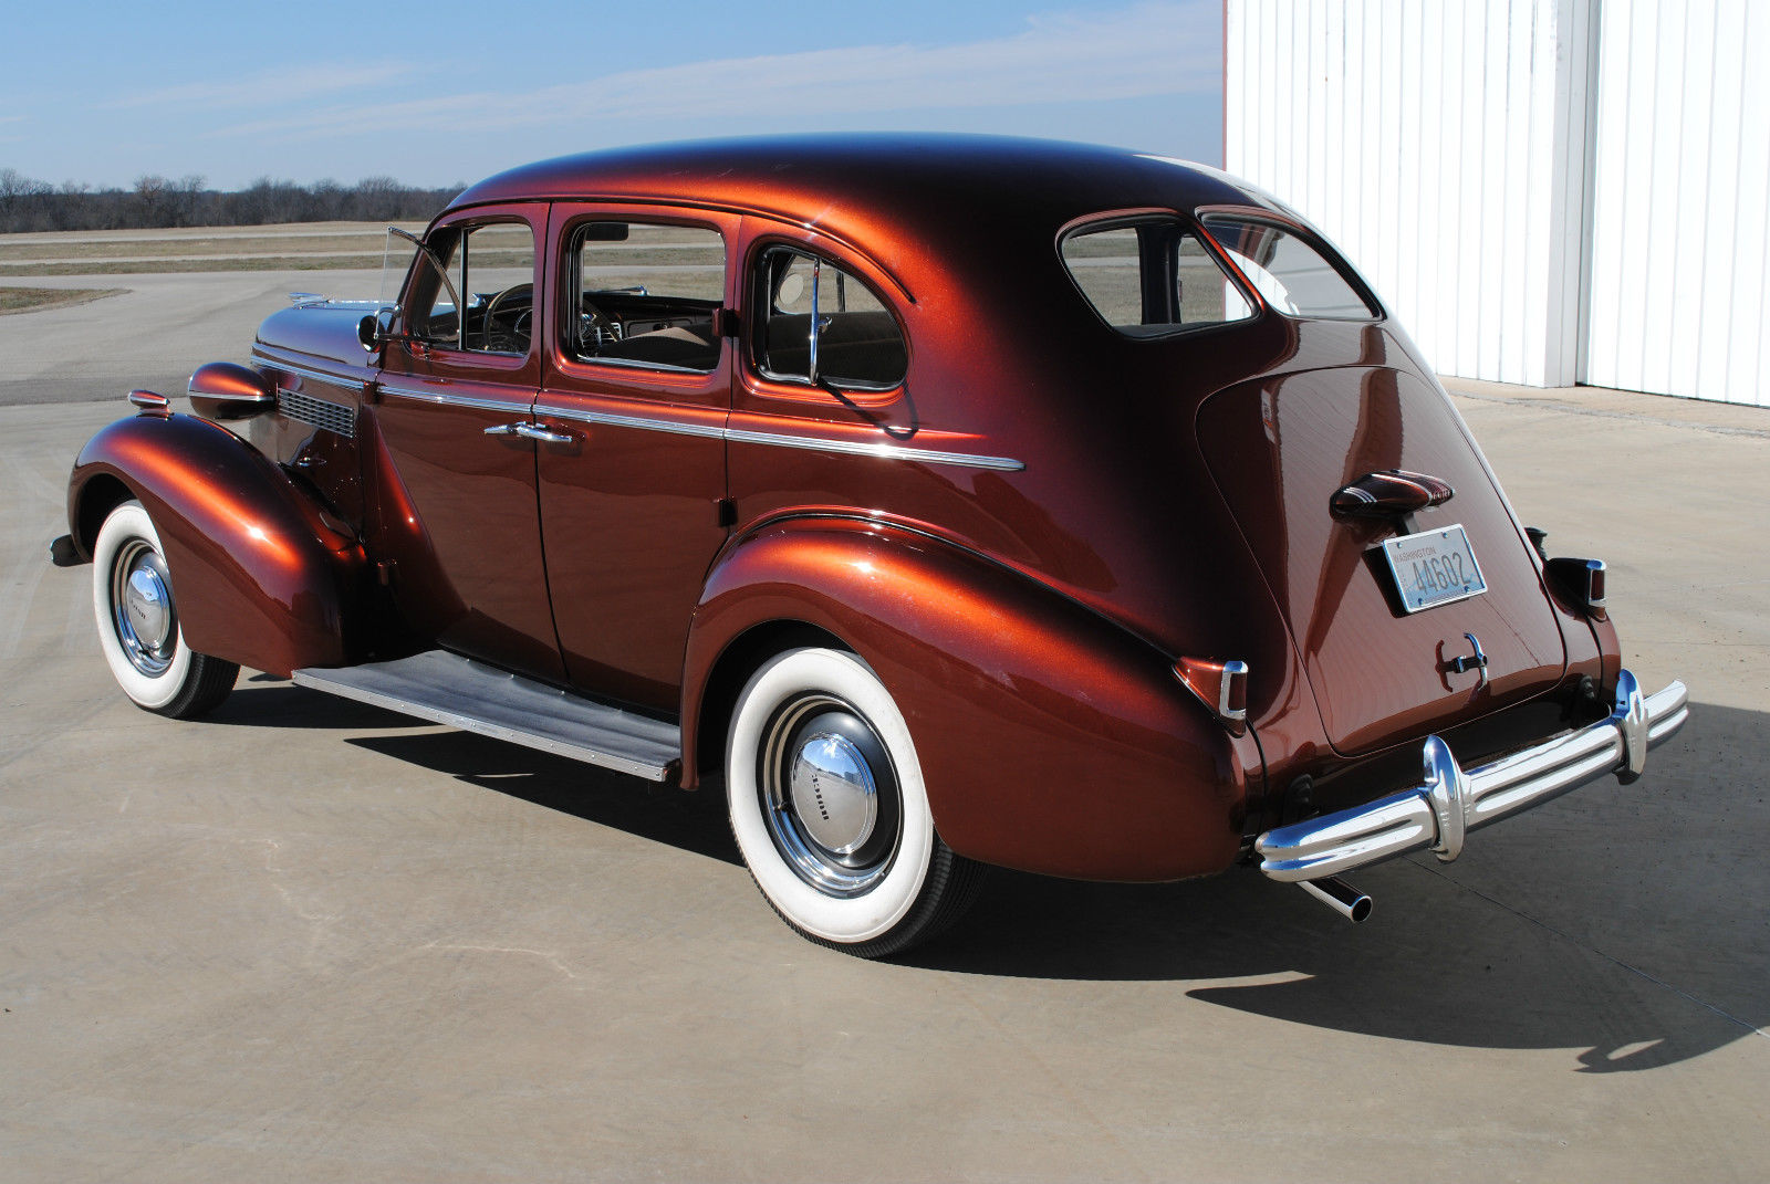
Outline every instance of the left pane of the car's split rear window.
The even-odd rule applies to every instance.
[[[1248,299],[1179,218],[1083,227],[1058,244],[1101,320],[1126,336],[1163,336],[1244,320]]]

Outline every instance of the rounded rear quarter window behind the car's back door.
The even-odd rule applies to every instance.
[[[756,356],[788,382],[889,391],[910,370],[897,319],[851,271],[789,246],[763,251],[756,271]]]

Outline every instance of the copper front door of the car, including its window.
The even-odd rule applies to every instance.
[[[446,650],[561,681],[531,412],[545,230],[543,204],[467,209],[430,230],[377,391],[375,531],[409,627]]]

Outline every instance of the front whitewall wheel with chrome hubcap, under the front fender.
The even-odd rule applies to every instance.
[[[112,676],[136,706],[191,719],[234,690],[239,667],[184,644],[159,533],[138,501],[110,511],[92,547],[92,614]]]

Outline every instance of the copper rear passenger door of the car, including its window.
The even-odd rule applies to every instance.
[[[575,687],[674,711],[689,619],[726,542],[738,218],[554,204],[535,419],[554,623]]]

